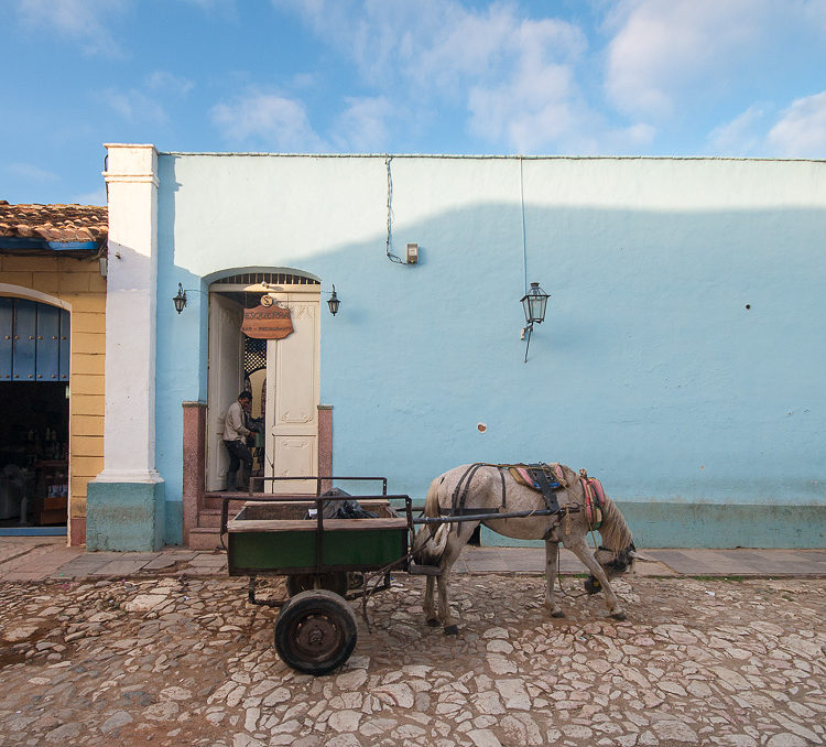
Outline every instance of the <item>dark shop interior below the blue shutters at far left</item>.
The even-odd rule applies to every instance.
[[[0,382],[0,529],[65,526],[68,385]]]

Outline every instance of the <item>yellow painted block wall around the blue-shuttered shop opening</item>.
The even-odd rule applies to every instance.
[[[85,518],[86,484],[104,469],[106,278],[96,260],[0,256],[0,279],[72,307],[69,517]]]

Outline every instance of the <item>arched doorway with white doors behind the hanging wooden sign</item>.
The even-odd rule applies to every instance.
[[[293,332],[257,339],[241,332],[244,310],[262,297],[290,311]],[[318,470],[319,300],[316,278],[296,271],[230,275],[209,286],[206,489],[227,487],[229,456],[224,416],[242,389],[252,393],[252,414],[263,421],[253,445],[253,470],[263,476],[316,475]],[[283,480],[275,492],[313,491],[314,485]]]

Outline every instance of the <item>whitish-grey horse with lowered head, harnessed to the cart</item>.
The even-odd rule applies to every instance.
[[[446,635],[457,635],[458,627],[450,615],[448,576],[470,535],[479,523],[499,534],[520,540],[545,540],[545,607],[552,617],[565,617],[554,598],[559,542],[570,550],[590,571],[585,588],[594,594],[605,592],[609,615],[626,619],[610,578],[633,566],[635,548],[631,531],[617,506],[602,495],[602,521],[599,533],[602,546],[588,551],[586,535],[594,528],[591,505],[586,505],[587,475],[578,477],[570,467],[552,465],[558,487],[553,496],[558,505],[554,515],[497,519],[497,512],[534,511],[547,508],[543,494],[518,483],[508,465],[474,464],[450,469],[431,483],[425,501],[425,516],[490,513],[490,518],[454,523],[425,524],[413,540],[413,560],[421,565],[437,566],[438,573],[427,576],[424,613],[427,625],[444,625]],[[601,490],[600,490],[601,491]],[[436,529],[437,527],[437,529]],[[434,577],[438,578],[438,616],[434,609]]]

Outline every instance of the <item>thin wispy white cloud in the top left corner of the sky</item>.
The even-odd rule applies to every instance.
[[[24,25],[46,29],[81,45],[85,54],[123,57],[123,50],[108,29],[108,21],[122,14],[127,0],[19,0]]]

